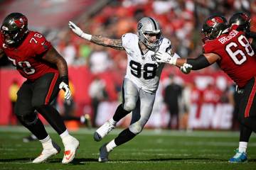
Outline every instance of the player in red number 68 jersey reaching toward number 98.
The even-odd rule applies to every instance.
[[[156,57],[159,62],[174,64],[187,72],[191,69],[203,69],[217,62],[219,67],[238,84],[238,88],[243,89],[238,113],[240,123],[256,132],[256,51],[252,48],[255,39],[250,42],[244,30],[228,28],[223,16],[207,18],[202,32],[205,35],[203,54],[196,59],[174,59],[161,52],[157,52]],[[238,156],[239,162],[247,161],[246,154]]]

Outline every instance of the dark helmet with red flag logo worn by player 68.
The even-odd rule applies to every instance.
[[[203,23],[203,42],[217,38],[226,28],[228,28],[228,22],[223,16],[210,16]]]

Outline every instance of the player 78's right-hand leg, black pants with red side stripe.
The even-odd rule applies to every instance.
[[[50,102],[57,97],[60,79],[58,74],[48,73],[37,79],[33,84],[32,106],[38,113],[43,115],[48,123],[60,135],[65,147],[63,164],[67,164],[75,158],[79,142],[75,137],[69,135],[60,113],[50,105]]]

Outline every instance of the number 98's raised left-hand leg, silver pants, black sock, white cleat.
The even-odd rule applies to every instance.
[[[94,134],[95,141],[102,140],[111,130],[113,130],[117,122],[124,118],[125,115],[130,113],[136,106],[139,89],[129,79],[124,79],[122,86],[122,104],[117,107],[113,118],[107,120],[100,128],[98,128]]]

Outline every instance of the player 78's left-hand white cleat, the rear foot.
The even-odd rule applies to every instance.
[[[55,142],[52,142],[52,147],[44,148],[43,152],[37,157],[36,159],[33,159],[34,164],[46,162],[46,160],[50,157],[52,157],[55,154],[58,154],[60,152],[60,147],[55,144]]]

